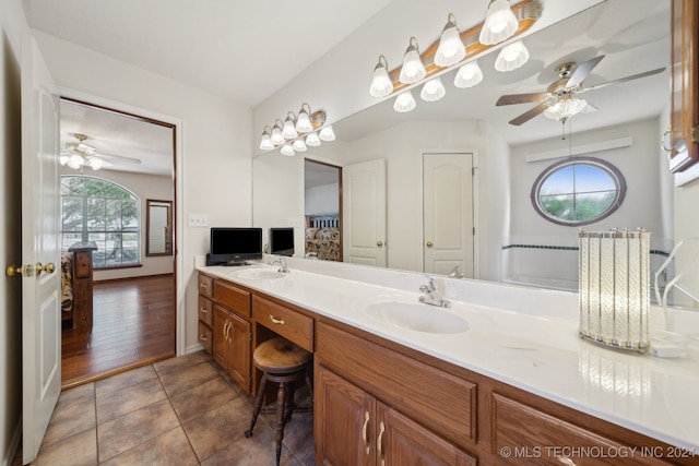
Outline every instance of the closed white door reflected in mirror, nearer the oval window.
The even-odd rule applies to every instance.
[[[425,272],[473,278],[473,155],[424,154],[423,168]]]

